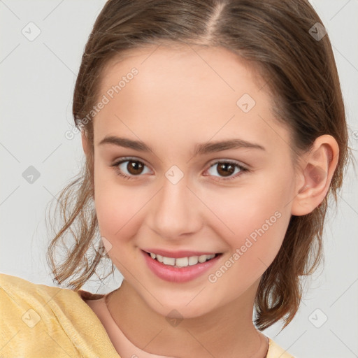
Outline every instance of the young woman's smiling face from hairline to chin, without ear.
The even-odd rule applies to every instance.
[[[290,134],[240,57],[156,48],[104,72],[94,201],[124,280],[157,313],[196,317],[240,301],[277,255],[295,190]],[[205,253],[219,255],[194,264]]]

